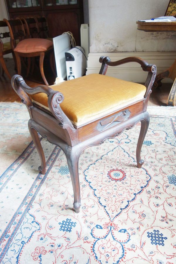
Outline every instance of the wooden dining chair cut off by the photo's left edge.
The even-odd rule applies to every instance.
[[[0,27],[1,28],[7,27],[6,22],[0,21]],[[7,70],[3,56],[9,53],[12,53],[12,49],[11,49],[10,41],[7,41],[5,43],[2,42],[1,39],[4,39],[4,38],[10,38],[10,32],[0,33],[0,62],[2,65],[2,75],[4,75],[4,72],[5,72],[6,75],[11,79],[11,75],[9,71]]]

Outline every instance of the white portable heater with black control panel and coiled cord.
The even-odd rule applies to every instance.
[[[86,56],[82,47],[76,46],[65,52],[67,80],[81,77],[86,72]]]

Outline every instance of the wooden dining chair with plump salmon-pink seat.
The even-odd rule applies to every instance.
[[[11,48],[16,57],[18,74],[21,74],[21,57],[27,57],[30,60],[31,57],[39,56],[40,73],[44,83],[48,85],[43,70],[43,61],[45,53],[53,51],[53,42],[44,38],[26,38],[28,36],[25,33],[21,19],[7,20],[4,18],[4,21],[9,27],[11,35]],[[17,45],[15,41],[16,39],[20,40]],[[28,63],[28,67],[29,65],[30,63]]]

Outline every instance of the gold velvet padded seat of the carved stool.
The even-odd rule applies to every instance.
[[[100,74],[90,74],[50,86],[64,95],[61,109],[79,127],[143,99],[146,87]],[[48,108],[44,93],[31,96]]]

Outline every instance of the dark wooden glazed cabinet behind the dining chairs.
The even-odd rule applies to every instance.
[[[10,18],[45,16],[50,37],[70,31],[80,45],[83,0],[6,0],[6,4]]]

